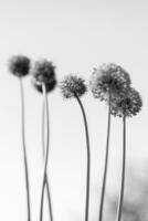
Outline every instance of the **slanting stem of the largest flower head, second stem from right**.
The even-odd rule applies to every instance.
[[[102,185],[102,192],[101,192],[101,204],[99,204],[99,217],[98,217],[99,221],[103,220],[103,212],[104,212],[104,198],[105,198],[106,178],[107,178],[107,170],[108,170],[109,137],[110,137],[109,135],[110,135],[110,93],[109,93],[109,104],[108,104],[108,122],[107,122],[105,165],[104,165],[104,176],[103,176],[103,185]]]

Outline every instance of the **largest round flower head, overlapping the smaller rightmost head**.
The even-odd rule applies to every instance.
[[[109,63],[94,69],[89,87],[95,98],[108,101],[109,93],[116,96],[126,91],[130,83],[129,74],[121,66]]]

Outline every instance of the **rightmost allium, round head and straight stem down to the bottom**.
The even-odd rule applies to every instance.
[[[121,220],[121,209],[125,190],[125,170],[126,170],[126,118],[137,115],[142,106],[139,93],[129,87],[125,94],[114,98],[110,103],[110,113],[114,116],[123,118],[123,168],[121,168],[121,186],[119,192],[119,201],[117,209],[117,221]]]

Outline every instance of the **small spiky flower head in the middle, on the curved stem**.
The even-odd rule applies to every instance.
[[[65,98],[71,98],[74,96],[82,96],[86,92],[85,81],[75,75],[65,76],[61,82],[61,91]]]

